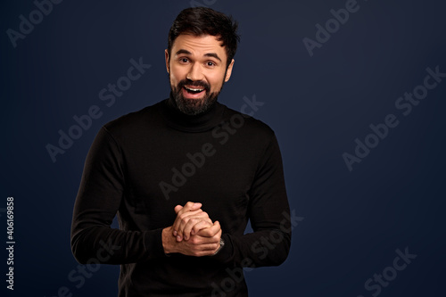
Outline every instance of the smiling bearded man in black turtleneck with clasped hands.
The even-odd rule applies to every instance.
[[[287,257],[276,136],[217,102],[236,28],[209,8],[180,12],[165,51],[169,99],[104,125],[87,155],[71,247],[80,263],[120,264],[119,296],[247,296],[243,267]]]

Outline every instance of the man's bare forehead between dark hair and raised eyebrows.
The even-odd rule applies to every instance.
[[[216,36],[202,35],[194,36],[181,34],[175,39],[172,46],[172,54],[175,55],[179,50],[186,50],[194,56],[203,56],[204,54],[215,53],[223,60],[226,59],[225,47]]]

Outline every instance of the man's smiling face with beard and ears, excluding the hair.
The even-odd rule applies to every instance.
[[[227,67],[225,47],[217,38],[181,34],[172,45],[171,56],[165,51],[172,95],[186,114],[207,111],[231,77],[234,60]]]

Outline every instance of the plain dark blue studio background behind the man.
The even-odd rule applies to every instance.
[[[235,110],[244,96],[264,103],[254,117],[277,133],[291,208],[303,218],[285,264],[246,273],[251,295],[372,296],[364,283],[406,247],[417,258],[379,295],[443,295],[446,78],[408,116],[394,103],[423,83],[427,67],[446,72],[445,5],[359,0],[310,57],[302,39],[315,39],[315,25],[346,0],[198,2],[240,22],[233,77],[219,100]],[[104,123],[169,95],[163,50],[171,22],[190,5],[62,1],[14,48],[6,30],[19,30],[19,16],[29,19],[36,6],[2,2],[0,230],[4,246],[13,196],[17,242],[13,292],[1,253],[8,296],[56,296],[62,286],[74,296],[116,296],[119,267],[101,266],[79,289],[67,278],[78,267],[70,221],[79,179]],[[107,107],[99,91],[139,57],[151,69]],[[92,105],[103,116],[54,163],[45,145],[57,145],[58,130]],[[343,153],[391,113],[399,126],[349,171]]]

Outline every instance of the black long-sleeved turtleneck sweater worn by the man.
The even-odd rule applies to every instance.
[[[226,242],[215,256],[166,255],[174,207],[202,202]],[[118,215],[120,229],[111,228]],[[267,125],[216,103],[187,116],[169,99],[101,128],[71,228],[80,263],[120,264],[119,296],[247,296],[242,267],[276,266],[291,243],[282,160]],[[248,219],[252,234],[244,235]]]

